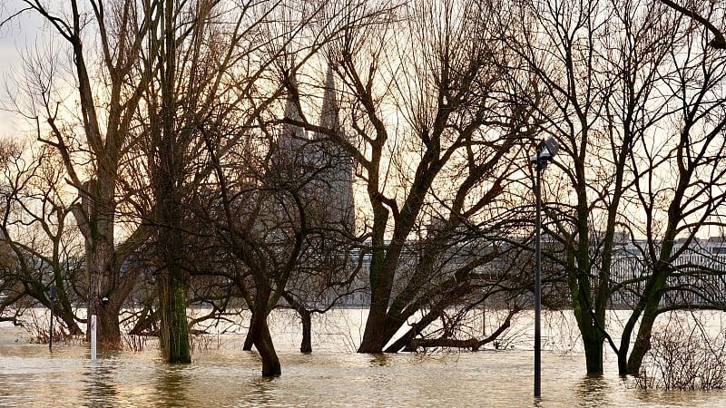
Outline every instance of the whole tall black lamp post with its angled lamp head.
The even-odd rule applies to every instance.
[[[537,144],[535,154],[529,159],[535,165],[535,397],[542,395],[542,170],[560,145],[552,136]]]

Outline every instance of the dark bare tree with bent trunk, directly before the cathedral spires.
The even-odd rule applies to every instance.
[[[246,347],[260,353],[266,376],[281,374],[267,319],[289,295],[292,275],[305,273],[299,263],[310,227],[303,189],[316,173],[301,159],[304,131],[280,125],[283,112],[301,110],[299,102],[282,102],[296,89],[295,73],[329,38],[309,30],[313,21],[325,24],[322,4],[270,2],[245,10],[248,41],[236,61],[240,69],[230,73],[234,109],[201,132],[214,171],[194,197],[194,214],[211,227],[204,229],[211,245],[227,261],[214,275],[250,307]]]

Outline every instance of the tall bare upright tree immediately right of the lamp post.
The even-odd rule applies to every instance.
[[[672,30],[660,23],[656,5],[533,5],[523,9],[522,21],[544,35],[513,38],[513,51],[523,53],[542,83],[533,100],[537,126],[562,144],[556,162],[564,180],[554,183],[545,205],[554,220],[549,235],[562,252],[550,256],[564,267],[588,373],[603,372],[603,342],[613,345],[605,316],[616,232],[626,219],[625,194],[638,183],[626,171],[629,154],[660,114],[648,103],[672,40],[660,33]]]

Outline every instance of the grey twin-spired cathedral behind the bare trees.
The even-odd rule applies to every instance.
[[[287,80],[291,88],[297,88],[294,74]],[[318,125],[324,131],[308,132],[292,123],[284,125],[272,146],[272,174],[266,178],[299,194],[307,220],[305,227],[310,228],[298,267],[314,273],[294,274],[289,290],[302,303],[368,305],[368,285],[359,279],[348,282],[360,257],[359,252],[348,248],[350,237],[356,233],[353,159],[341,147],[348,139],[340,126],[338,91],[330,68],[322,91]],[[296,92],[290,92],[285,118],[302,121],[303,116],[311,116],[303,115],[300,109]],[[283,217],[297,217],[297,209],[290,210],[280,203],[276,206],[270,212],[284,211]],[[299,222],[299,219],[290,220]],[[320,292],[324,294],[319,295]]]

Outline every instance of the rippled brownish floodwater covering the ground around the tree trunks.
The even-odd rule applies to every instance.
[[[337,314],[337,316],[336,316]],[[334,311],[319,321],[314,352],[301,355],[290,317],[272,326],[282,376],[262,378],[242,335],[196,339],[191,364],[164,364],[151,340],[141,352],[99,354],[87,345],[27,343],[23,329],[0,325],[0,406],[123,407],[603,407],[722,406],[726,393],[638,390],[608,355],[606,373],[584,374],[576,345],[544,341],[542,398],[533,397],[533,351],[511,336],[506,350],[358,355],[365,311]],[[332,322],[332,323],[331,323]],[[557,327],[560,333],[553,335]],[[566,325],[544,336],[566,343]],[[348,330],[346,332],[346,330]],[[521,334],[520,334],[521,337]]]

